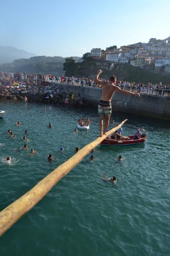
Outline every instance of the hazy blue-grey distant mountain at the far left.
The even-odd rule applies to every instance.
[[[36,56],[36,54],[11,46],[0,46],[0,64],[9,63],[16,59],[29,59],[33,56]]]

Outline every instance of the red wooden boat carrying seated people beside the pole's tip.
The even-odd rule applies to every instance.
[[[127,145],[136,145],[136,144],[141,144],[146,142],[147,137],[142,137],[139,139],[134,139],[134,135],[131,136],[125,136],[120,138],[120,140],[116,140],[116,139],[111,139],[110,137],[107,137],[106,139],[104,139],[100,145],[103,146],[127,146]]]

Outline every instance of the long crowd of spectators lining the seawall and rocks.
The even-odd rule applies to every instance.
[[[80,77],[68,77],[68,76],[54,76],[54,75],[43,75],[43,74],[21,74],[21,73],[3,73],[0,72],[0,82],[3,84],[3,95],[8,94],[8,89],[17,82],[17,78],[22,78],[22,80],[18,81],[19,85],[25,83],[26,85],[35,85],[37,88],[43,86],[49,86],[50,83],[62,83],[62,84],[70,84],[74,86],[88,86],[88,87],[97,87],[101,88],[99,84],[96,84],[94,79],[90,78],[80,78]],[[101,79],[104,80],[104,79]],[[106,80],[104,80],[106,81]],[[162,82],[158,84],[153,83],[135,83],[135,82],[127,82],[127,81],[117,81],[116,85],[119,86],[122,90],[139,92],[145,94],[154,94],[154,95],[164,95],[170,96],[170,84],[165,85]],[[25,86],[26,87],[26,86]],[[2,89],[2,85],[1,85]],[[18,87],[18,90],[26,90],[24,87]],[[36,93],[36,89],[34,88]],[[2,90],[1,90],[2,91]],[[55,90],[53,91],[55,95]]]

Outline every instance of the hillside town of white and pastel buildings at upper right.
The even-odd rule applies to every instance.
[[[151,38],[148,43],[139,42],[118,49],[93,48],[86,57],[170,73],[170,37]],[[83,61],[83,58],[79,60],[80,63]]]

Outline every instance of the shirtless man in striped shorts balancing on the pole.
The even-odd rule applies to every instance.
[[[104,82],[99,80],[99,75],[102,73],[102,70],[98,71],[98,74],[95,76],[95,82],[102,85],[102,96],[99,101],[98,105],[98,113],[100,116],[99,119],[99,128],[100,128],[100,137],[106,135],[106,130],[109,124],[109,119],[111,115],[111,99],[113,97],[113,94],[115,91],[118,93],[126,94],[126,95],[135,95],[137,97],[140,97],[139,93],[131,93],[130,91],[124,91],[120,89],[118,86],[115,85],[116,82],[116,76],[111,76],[109,82]],[[103,119],[105,115],[105,124],[104,124],[104,132],[103,132]]]

